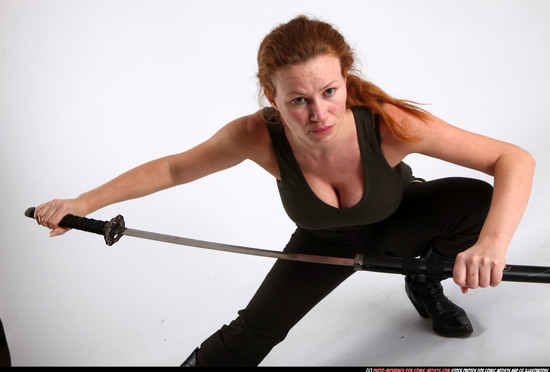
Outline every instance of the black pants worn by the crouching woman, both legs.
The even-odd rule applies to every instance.
[[[344,232],[298,228],[285,252],[416,257],[433,248],[455,257],[477,240],[492,187],[467,178],[413,183],[386,220]],[[201,345],[213,366],[256,366],[319,301],[354,273],[346,266],[278,260],[239,316]]]

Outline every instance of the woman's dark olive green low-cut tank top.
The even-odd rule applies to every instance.
[[[412,170],[407,164],[401,162],[392,168],[386,162],[371,111],[354,107],[352,112],[363,161],[365,190],[356,205],[344,209],[333,207],[315,195],[300,170],[282,124],[266,124],[279,163],[281,180],[277,180],[277,187],[283,207],[290,219],[302,228],[350,230],[384,220],[397,209],[405,187],[413,181]]]

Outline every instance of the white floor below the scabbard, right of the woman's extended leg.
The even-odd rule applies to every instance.
[[[314,309],[262,365],[550,367],[548,284],[504,282],[463,295],[444,282],[474,326],[471,336],[453,339],[435,335],[431,321],[416,313],[402,278],[360,274]]]

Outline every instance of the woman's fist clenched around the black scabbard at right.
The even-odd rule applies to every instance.
[[[502,281],[505,266],[506,249],[476,243],[456,257],[453,279],[462,288],[462,293],[479,287],[496,287]]]

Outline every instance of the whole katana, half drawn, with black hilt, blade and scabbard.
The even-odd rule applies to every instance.
[[[35,208],[25,211],[25,216],[34,218]],[[87,217],[66,215],[59,226],[102,235],[108,246],[118,242],[122,236],[154,240],[209,250],[241,253],[252,256],[270,257],[283,260],[339,265],[352,267],[355,271],[374,271],[390,274],[417,275],[421,277],[450,278],[453,276],[453,261],[437,258],[407,258],[367,256],[358,253],[353,258],[318,256],[302,253],[284,253],[273,250],[243,247],[232,244],[215,243],[150,231],[130,229],[125,226],[124,217],[118,215],[110,221],[100,221]],[[513,282],[550,283],[550,267],[506,265],[502,280]]]

